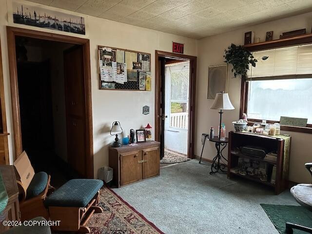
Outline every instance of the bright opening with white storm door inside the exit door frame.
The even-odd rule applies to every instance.
[[[190,61],[165,61],[165,128],[163,162],[187,159]]]

